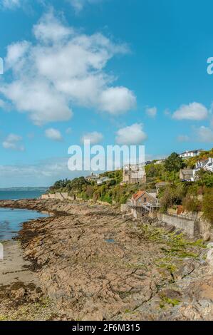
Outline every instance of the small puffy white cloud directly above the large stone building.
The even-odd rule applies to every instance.
[[[134,123],[128,127],[121,128],[116,135],[116,143],[120,145],[141,144],[147,138],[146,133],[142,130],[142,123]]]

